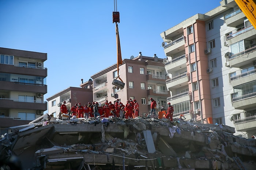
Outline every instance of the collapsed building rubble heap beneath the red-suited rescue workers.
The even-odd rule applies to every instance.
[[[256,139],[233,127],[182,119],[78,118],[48,114],[0,138],[2,167],[21,169],[255,169]],[[15,165],[14,165],[15,166]]]

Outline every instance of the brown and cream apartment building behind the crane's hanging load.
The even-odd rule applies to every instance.
[[[152,97],[157,102],[157,108],[167,106],[167,96],[170,96],[165,81],[169,77],[165,71],[163,59],[155,54],[154,57],[139,56],[123,59],[119,66],[119,75],[125,83],[123,89],[117,89],[112,85],[117,78],[117,65],[114,64],[91,76],[93,79],[93,99],[98,103],[116,102],[120,99],[123,104],[127,100],[136,99],[139,104],[139,114],[146,115],[150,111]],[[121,81],[120,80],[120,81]]]

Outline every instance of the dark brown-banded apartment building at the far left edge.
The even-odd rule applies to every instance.
[[[47,110],[47,54],[0,48],[0,134],[28,124]]]

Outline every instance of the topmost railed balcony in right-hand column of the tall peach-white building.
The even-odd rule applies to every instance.
[[[236,27],[237,25],[244,23],[244,17],[244,13],[239,8],[234,12],[226,14],[224,19],[228,27]]]

